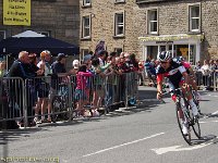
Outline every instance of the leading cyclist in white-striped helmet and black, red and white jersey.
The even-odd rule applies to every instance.
[[[169,78],[169,82],[174,87],[173,89],[181,88],[184,92],[185,97],[189,100],[189,103],[192,108],[194,116],[198,115],[196,104],[192,99],[192,95],[190,93],[189,89],[189,76],[185,71],[185,67],[182,64],[179,64],[172,61],[169,51],[161,51],[158,54],[158,60],[160,64],[158,65],[156,73],[157,73],[157,99],[161,99],[162,95],[162,80],[164,77]],[[183,121],[182,131],[184,135],[187,135],[187,127],[185,125],[185,121],[183,118],[182,112],[180,112],[180,118]]]

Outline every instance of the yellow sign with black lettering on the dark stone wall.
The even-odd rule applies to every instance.
[[[3,0],[3,25],[31,26],[31,0]]]

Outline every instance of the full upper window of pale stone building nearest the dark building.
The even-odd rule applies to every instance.
[[[82,38],[90,38],[90,16],[83,16],[82,20]]]

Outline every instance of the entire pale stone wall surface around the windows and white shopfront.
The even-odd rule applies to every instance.
[[[94,13],[92,17],[92,39],[81,40],[81,49],[94,50],[99,39],[105,39],[107,50],[124,47],[124,51],[135,52],[142,59],[138,37],[147,36],[147,10],[158,9],[159,34],[178,35],[189,33],[189,4],[201,3],[202,42],[201,60],[218,59],[218,2],[217,0],[180,0],[136,4],[135,0],[114,3],[113,0],[93,0],[90,8],[81,5],[81,16]],[[81,0],[82,4],[82,0]],[[125,11],[125,37],[113,38],[113,14]]]

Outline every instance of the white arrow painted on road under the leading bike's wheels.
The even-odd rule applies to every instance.
[[[201,143],[201,145],[185,147],[185,148],[181,148],[182,146],[171,146],[171,147],[166,147],[166,148],[156,148],[156,149],[152,149],[152,150],[155,151],[158,155],[160,155],[160,154],[165,154],[167,152],[192,151],[192,150],[204,148],[211,143],[214,143],[214,142]]]

